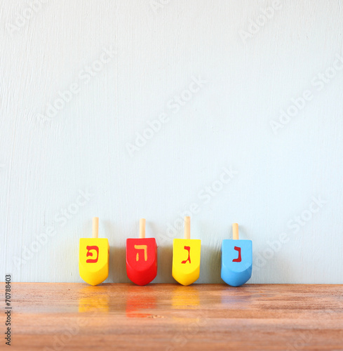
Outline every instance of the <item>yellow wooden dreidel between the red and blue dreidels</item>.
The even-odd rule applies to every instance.
[[[191,239],[191,218],[184,217],[184,239],[173,241],[173,278],[189,285],[199,278],[201,240]]]

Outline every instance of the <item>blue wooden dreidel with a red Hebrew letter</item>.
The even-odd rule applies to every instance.
[[[248,282],[253,271],[253,242],[238,239],[238,224],[232,225],[234,239],[222,244],[222,279],[231,286]]]

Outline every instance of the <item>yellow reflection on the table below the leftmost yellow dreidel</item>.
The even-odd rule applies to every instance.
[[[79,312],[109,312],[105,286],[85,286],[79,291]]]

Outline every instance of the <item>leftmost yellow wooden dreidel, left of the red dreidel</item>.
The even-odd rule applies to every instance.
[[[104,282],[109,275],[109,241],[98,238],[99,218],[93,218],[93,237],[81,238],[79,248],[80,277],[90,285]]]

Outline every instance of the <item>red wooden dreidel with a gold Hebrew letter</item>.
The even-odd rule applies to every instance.
[[[139,239],[126,239],[126,273],[137,285],[147,285],[157,274],[157,245],[155,238],[145,237],[145,220],[140,219]]]

